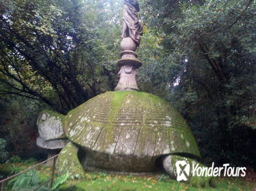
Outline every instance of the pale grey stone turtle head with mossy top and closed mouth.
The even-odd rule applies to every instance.
[[[36,144],[44,149],[61,149],[64,147],[66,136],[63,122],[64,115],[49,110],[41,111],[36,121],[39,134]],[[63,141],[65,144],[62,143]]]

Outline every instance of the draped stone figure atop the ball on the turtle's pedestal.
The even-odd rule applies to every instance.
[[[137,0],[125,0],[122,38],[130,37],[137,46],[140,46],[140,35],[143,34],[142,25],[138,20],[139,11],[140,6]]]

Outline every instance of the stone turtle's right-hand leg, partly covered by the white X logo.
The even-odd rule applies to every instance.
[[[209,187],[212,177],[192,175],[192,166],[206,167],[203,164],[181,156],[169,155],[163,160],[164,170],[172,179],[185,181],[195,187]]]

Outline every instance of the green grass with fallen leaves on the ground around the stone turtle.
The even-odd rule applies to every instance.
[[[31,164],[33,165],[33,164]],[[0,164],[0,171],[13,172],[28,168],[29,164]],[[40,166],[41,179],[48,179],[51,176],[51,167]],[[194,188],[187,183],[179,183],[169,179],[166,175],[145,174],[145,175],[114,175],[107,173],[86,173],[86,179],[69,180],[60,187],[62,191],[250,191],[256,187],[255,183],[242,178],[216,178],[215,188]]]

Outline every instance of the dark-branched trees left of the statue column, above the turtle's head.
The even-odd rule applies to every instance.
[[[42,100],[66,113],[100,93],[100,83],[108,89],[105,80],[112,87],[114,64],[103,60],[117,50],[116,39],[108,38],[116,23],[107,3],[1,1],[0,80],[9,89],[0,93]]]

